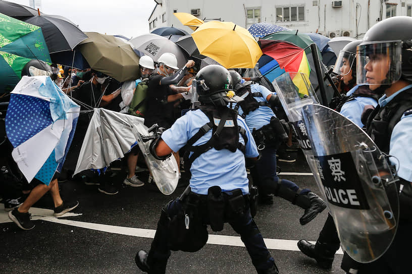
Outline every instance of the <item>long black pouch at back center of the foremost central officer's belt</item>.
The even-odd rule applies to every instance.
[[[223,230],[225,218],[225,198],[222,194],[222,189],[215,185],[208,189],[208,212],[210,226],[213,231]]]

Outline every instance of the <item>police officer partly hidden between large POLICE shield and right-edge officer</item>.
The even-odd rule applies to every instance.
[[[356,40],[347,44],[339,53],[339,56],[335,63],[335,73],[338,73],[342,77],[342,81],[346,85],[349,82],[355,83],[356,81],[356,46],[358,46],[362,40]],[[378,98],[380,95],[375,93],[379,86],[369,85],[356,85],[346,96],[339,98],[340,103],[336,106],[335,110],[340,111],[342,115],[350,119],[353,123],[359,127],[363,127],[364,124],[361,121],[362,113],[366,106],[375,108],[378,104]],[[304,239],[297,243],[298,248],[307,256],[316,259],[318,265],[322,268],[331,268],[336,251],[339,249],[340,240],[336,231],[333,218],[328,214],[328,218],[319,234],[319,238],[316,244],[312,244]]]

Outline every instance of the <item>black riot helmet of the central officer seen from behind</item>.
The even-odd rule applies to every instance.
[[[225,67],[217,64],[205,66],[197,73],[195,80],[200,103],[226,106],[229,102],[238,102],[232,77]]]

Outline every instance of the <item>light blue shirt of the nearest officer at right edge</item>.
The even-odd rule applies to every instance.
[[[384,107],[396,95],[404,90],[412,88],[408,85],[389,97],[386,95],[379,99],[379,105]],[[391,163],[396,166],[398,176],[402,179],[412,182],[412,115],[403,114],[400,121],[395,125],[392,131],[389,154],[394,156],[389,158]],[[397,159],[396,159],[396,158]]]

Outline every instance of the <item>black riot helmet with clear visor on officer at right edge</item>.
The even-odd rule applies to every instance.
[[[356,83],[391,85],[399,79],[412,82],[412,17],[395,16],[370,28],[357,47]],[[370,78],[368,66],[380,61],[383,80]],[[374,68],[379,70],[379,68]],[[375,80],[375,81],[374,81]],[[375,83],[380,82],[380,83]]]

